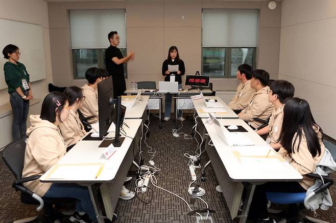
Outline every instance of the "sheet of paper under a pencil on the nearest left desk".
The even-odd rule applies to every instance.
[[[56,170],[49,176],[48,179],[58,180],[92,180],[101,169],[102,163],[97,164],[73,164],[73,165],[56,165],[53,168]]]

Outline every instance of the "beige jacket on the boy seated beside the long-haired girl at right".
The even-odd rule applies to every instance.
[[[270,121],[268,123],[269,127],[269,135],[268,139],[270,143],[276,144],[278,143],[277,140],[279,139],[281,127],[282,127],[282,119],[283,119],[283,105],[281,105],[277,110],[273,109],[272,115],[270,117]]]

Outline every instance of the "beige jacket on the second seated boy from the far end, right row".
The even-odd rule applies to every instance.
[[[239,119],[248,121],[251,126],[258,128],[262,123],[253,121],[253,118],[267,120],[271,116],[274,106],[268,100],[268,89],[270,89],[270,87],[266,86],[254,93],[251,102],[242,110],[242,116],[240,116]]]

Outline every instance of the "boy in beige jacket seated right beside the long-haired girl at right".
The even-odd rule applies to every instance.
[[[281,147],[279,136],[282,126],[283,106],[287,98],[294,96],[294,91],[292,83],[286,80],[275,80],[270,86],[268,100],[274,105],[274,109],[268,126],[259,129],[257,134],[268,134],[266,142],[276,151]]]

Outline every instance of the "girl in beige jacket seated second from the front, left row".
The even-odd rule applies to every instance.
[[[59,128],[67,147],[77,144],[86,134],[77,112],[83,101],[85,101],[85,96],[83,96],[82,91],[81,88],[76,86],[68,87],[64,91],[65,96],[69,100],[71,109],[69,117],[64,122],[60,123]]]

